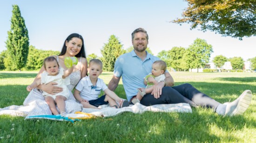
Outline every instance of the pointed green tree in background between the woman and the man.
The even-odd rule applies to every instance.
[[[101,49],[103,69],[106,71],[114,71],[115,60],[124,53],[125,50],[123,50],[122,44],[119,42],[118,38],[115,37],[115,35],[111,35],[108,39],[108,43]]]

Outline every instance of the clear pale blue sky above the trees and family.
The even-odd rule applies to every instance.
[[[87,55],[101,56],[104,43],[114,34],[127,49],[132,46],[131,33],[142,27],[148,31],[148,47],[156,56],[174,46],[188,48],[198,37],[213,46],[211,58],[255,57],[256,37],[242,41],[222,37],[215,32],[190,30],[169,23],[181,17],[187,7],[183,0],[0,0],[0,52],[6,50],[12,5],[20,7],[28,29],[30,45],[42,50],[61,50],[65,38],[79,33],[85,39]]]

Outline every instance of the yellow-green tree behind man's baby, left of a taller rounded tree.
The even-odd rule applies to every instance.
[[[182,69],[182,57],[185,53],[185,48],[182,47],[173,47],[170,51],[170,62],[171,67],[175,68],[177,71]]]

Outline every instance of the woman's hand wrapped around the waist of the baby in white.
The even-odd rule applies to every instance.
[[[47,84],[41,84],[40,85],[40,89],[49,93],[49,94],[57,94],[63,91],[62,87],[57,87],[55,86],[57,85],[56,82],[50,82]]]

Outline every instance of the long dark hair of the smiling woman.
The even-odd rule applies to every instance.
[[[66,41],[69,42],[73,37],[77,37],[77,38],[80,38],[82,40],[81,50],[80,50],[80,52],[78,54],[75,55],[75,57],[84,57],[84,58],[86,58],[85,49],[84,49],[84,39],[83,39],[83,37],[81,35],[79,35],[77,33],[70,34],[66,38],[66,40],[64,41],[63,47],[61,49],[61,54],[59,56],[65,55],[65,53],[67,51]]]

